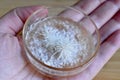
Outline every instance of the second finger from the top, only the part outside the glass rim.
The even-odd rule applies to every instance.
[[[103,26],[111,19],[120,8],[120,0],[108,0],[91,15],[91,19],[95,22],[98,28]]]

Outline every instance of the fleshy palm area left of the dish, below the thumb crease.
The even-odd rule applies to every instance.
[[[9,34],[0,34],[0,78],[1,80],[42,80],[25,59],[21,39]],[[12,45],[12,47],[11,47]],[[5,75],[6,74],[6,75]],[[39,77],[38,77],[39,75]],[[7,77],[6,77],[7,76]]]

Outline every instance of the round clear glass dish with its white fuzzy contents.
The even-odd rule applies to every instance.
[[[92,63],[100,46],[95,23],[82,10],[72,7],[35,11],[25,22],[22,38],[29,62],[49,77],[82,72]]]

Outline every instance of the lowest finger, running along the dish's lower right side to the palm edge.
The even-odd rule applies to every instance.
[[[100,51],[93,63],[80,75],[76,76],[76,78],[78,80],[79,77],[85,80],[92,80],[119,48],[120,30],[114,32],[103,44],[101,44]]]

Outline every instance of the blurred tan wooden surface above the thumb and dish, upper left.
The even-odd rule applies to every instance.
[[[69,6],[77,2],[78,0],[0,0],[0,16],[6,13],[8,10],[29,5],[46,5],[46,6]]]

